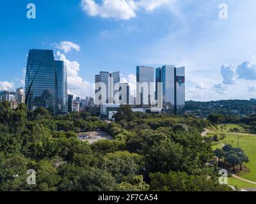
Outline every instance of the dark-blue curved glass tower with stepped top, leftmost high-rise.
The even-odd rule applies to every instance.
[[[54,115],[68,113],[65,62],[55,61],[52,50],[29,50],[25,92],[28,110],[44,107]]]

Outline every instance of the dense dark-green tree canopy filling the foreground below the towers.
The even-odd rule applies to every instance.
[[[209,124],[133,113],[127,105],[115,122],[104,122],[90,113],[53,116],[45,108],[0,103],[0,191],[228,191],[206,166],[213,152],[200,132]],[[114,140],[77,138],[96,130]],[[241,150],[234,151],[243,163]],[[31,169],[36,185],[26,182]]]

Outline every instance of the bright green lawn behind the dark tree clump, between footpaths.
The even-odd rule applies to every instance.
[[[238,147],[238,135],[236,134],[227,134],[225,142],[221,140],[221,143],[231,144],[233,147]],[[252,180],[256,182],[256,136],[255,135],[239,135],[239,147],[241,147],[245,154],[249,157],[249,163],[244,164],[247,168],[250,168],[250,172],[239,175],[243,179]]]

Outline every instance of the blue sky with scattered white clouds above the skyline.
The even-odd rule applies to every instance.
[[[28,3],[36,19],[26,17]],[[134,87],[136,66],[164,64],[186,66],[186,100],[255,98],[255,8],[255,0],[3,0],[0,89],[24,86],[28,50],[43,48],[66,61],[68,92],[82,98],[99,71],[121,71]]]

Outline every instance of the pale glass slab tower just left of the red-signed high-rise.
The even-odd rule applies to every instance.
[[[154,99],[154,68],[137,66],[136,82],[136,105],[150,106]]]

